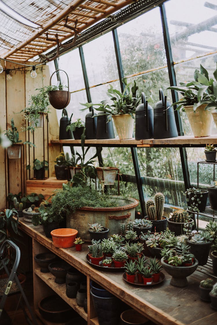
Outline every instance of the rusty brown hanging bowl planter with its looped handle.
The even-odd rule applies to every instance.
[[[63,70],[56,70],[54,73],[57,71],[63,71]],[[65,72],[65,71],[63,71]],[[54,74],[53,73],[53,74]],[[50,77],[50,86],[51,86],[51,78],[53,74]],[[50,90],[48,93],[49,96],[49,102],[50,104],[56,109],[56,110],[62,110],[66,106],[69,105],[71,94],[69,91],[69,77],[67,73],[65,72],[68,80],[68,91],[67,90]]]

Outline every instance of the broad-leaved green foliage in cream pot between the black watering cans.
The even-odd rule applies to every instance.
[[[135,80],[133,82],[127,83],[127,79],[122,78],[122,82],[125,85],[123,93],[117,89],[114,89],[112,85],[109,85],[110,88],[106,94],[112,101],[112,104],[110,104],[109,100],[102,100],[98,104],[86,103],[81,104],[83,106],[86,106],[86,108],[82,110],[94,107],[95,110],[99,110],[104,112],[104,114],[108,114],[108,121],[111,120],[112,115],[118,114],[130,114],[132,118],[134,118],[133,114],[135,114],[136,107],[140,102],[138,86],[136,85]]]

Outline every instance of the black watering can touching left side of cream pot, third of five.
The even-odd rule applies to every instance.
[[[114,139],[114,137],[115,133],[112,120],[108,122],[108,115],[104,112],[99,112],[97,114],[96,138],[98,140],[101,140]]]

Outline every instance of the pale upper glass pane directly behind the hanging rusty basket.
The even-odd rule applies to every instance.
[[[68,74],[70,91],[85,88],[81,60],[77,48],[60,57],[60,69]],[[63,85],[68,84],[67,76],[64,72],[60,72],[60,78]]]

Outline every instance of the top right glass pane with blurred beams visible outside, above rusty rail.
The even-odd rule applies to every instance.
[[[165,3],[174,61],[217,49],[216,11],[208,5],[204,0]]]

